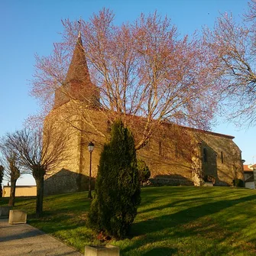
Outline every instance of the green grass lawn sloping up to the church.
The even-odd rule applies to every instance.
[[[143,188],[141,198],[130,237],[110,241],[121,255],[256,254],[255,190],[158,186]],[[81,252],[97,242],[86,228],[87,193],[45,197],[40,220],[34,218],[34,198],[18,198],[15,208],[28,211],[29,224]]]

